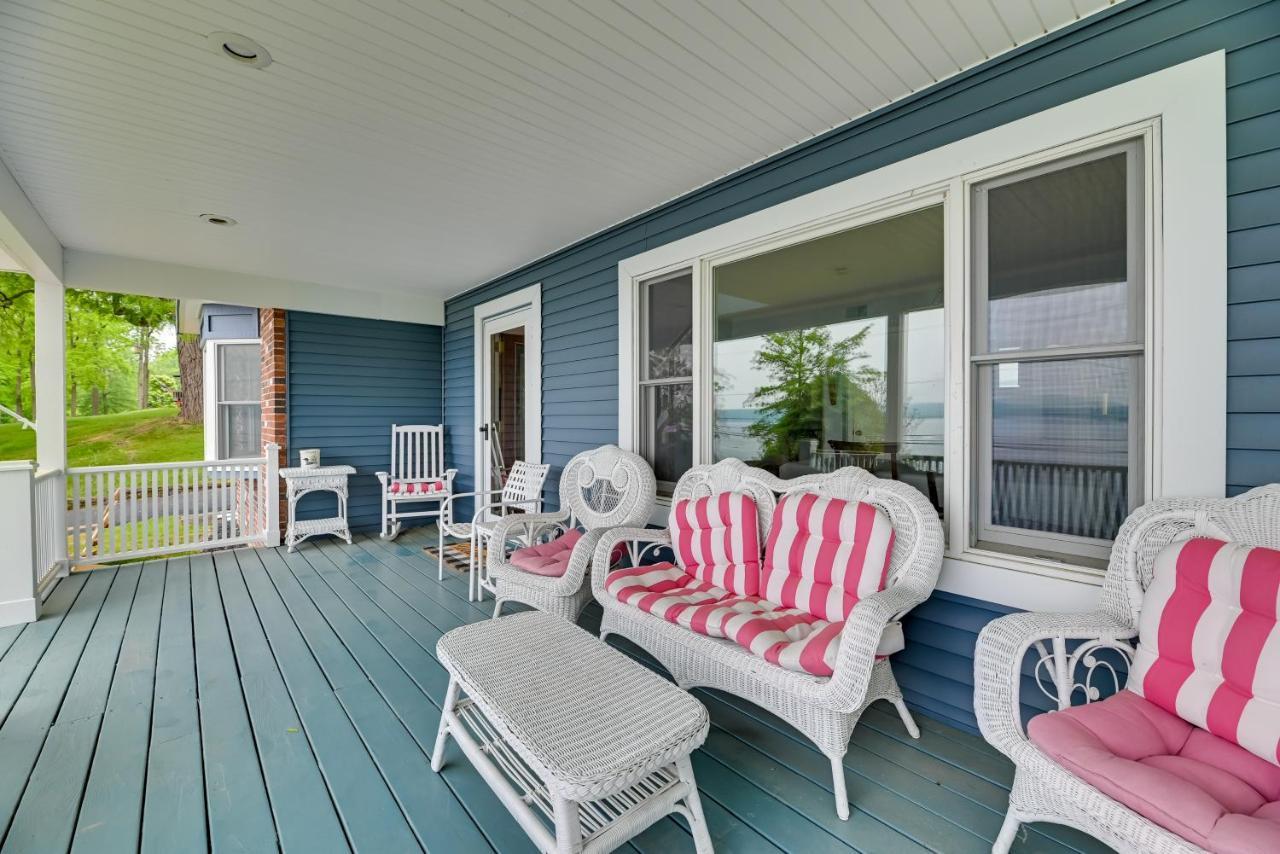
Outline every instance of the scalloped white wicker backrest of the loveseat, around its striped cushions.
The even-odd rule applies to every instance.
[[[676,484],[672,502],[731,490],[750,493],[755,499],[760,543],[769,542],[773,511],[787,493],[812,492],[824,498],[874,504],[884,511],[893,526],[893,552],[886,586],[908,584],[924,599],[938,580],[941,561],[936,558],[942,549],[938,513],[929,499],[909,484],[884,480],[855,466],[783,480],[741,460],[722,460],[686,471]]]

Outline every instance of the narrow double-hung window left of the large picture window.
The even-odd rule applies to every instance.
[[[640,455],[669,495],[694,462],[691,270],[640,287]]]

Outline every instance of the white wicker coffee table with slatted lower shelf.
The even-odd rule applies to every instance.
[[[582,629],[541,611],[462,626],[436,645],[448,736],[543,851],[609,851],[659,818],[712,850],[689,754],[707,709]]]

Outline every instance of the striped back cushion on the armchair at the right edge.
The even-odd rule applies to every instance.
[[[1280,764],[1280,552],[1166,547],[1143,597],[1129,689]]]

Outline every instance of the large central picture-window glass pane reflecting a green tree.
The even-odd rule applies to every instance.
[[[942,262],[938,206],[716,268],[716,458],[860,466],[941,507]]]

